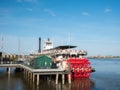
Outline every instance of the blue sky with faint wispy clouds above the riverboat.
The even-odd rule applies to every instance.
[[[89,56],[120,55],[120,0],[0,0],[1,51],[37,52],[39,37]]]

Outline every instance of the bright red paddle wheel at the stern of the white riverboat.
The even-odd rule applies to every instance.
[[[72,78],[89,78],[92,68],[90,62],[86,58],[69,58],[67,63],[70,63],[72,69]]]

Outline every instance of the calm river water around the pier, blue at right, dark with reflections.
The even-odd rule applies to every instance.
[[[37,87],[23,77],[23,73],[8,75],[6,68],[0,68],[0,90],[120,90],[120,59],[90,59],[96,72],[89,79],[72,80],[62,85],[46,79],[40,80]]]

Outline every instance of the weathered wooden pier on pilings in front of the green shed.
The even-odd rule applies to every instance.
[[[55,84],[58,84],[59,75],[62,76],[62,84],[65,83],[65,75],[68,75],[68,83],[71,84],[71,72],[64,71],[63,69],[33,69],[24,64],[0,64],[0,67],[6,67],[8,74],[10,74],[10,70],[12,67],[23,68],[24,69],[24,77],[31,82],[35,82],[39,85],[40,75],[55,75]]]

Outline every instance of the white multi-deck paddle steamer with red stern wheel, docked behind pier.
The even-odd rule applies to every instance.
[[[89,78],[90,73],[94,71],[90,61],[85,58],[87,51],[76,50],[76,46],[61,45],[53,48],[50,39],[44,42],[44,49],[40,51],[41,55],[47,55],[52,58],[52,68],[60,68],[72,72],[72,78]],[[56,66],[53,66],[56,65]]]

